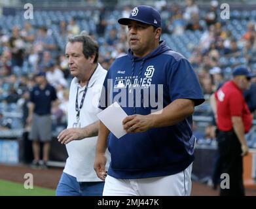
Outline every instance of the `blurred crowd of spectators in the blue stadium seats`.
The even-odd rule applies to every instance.
[[[219,16],[220,8],[217,1],[211,1],[207,10],[199,9],[198,5],[187,0],[187,5],[157,1],[155,7],[161,12],[163,33],[168,36],[183,35],[186,31],[202,31],[199,44],[191,50],[191,61],[198,74],[206,99],[223,82],[230,79],[232,68],[244,64],[255,71],[256,67],[256,32],[255,22],[246,20],[247,30],[240,37],[234,36],[228,21],[223,22]],[[119,10],[121,16],[129,16],[132,6]],[[67,100],[71,76],[65,58],[65,42],[69,35],[85,33],[98,40],[100,44],[99,62],[105,69],[116,57],[126,53],[126,27],[117,24],[117,20],[109,18],[115,10],[99,8],[92,16],[95,29],[86,30],[81,27],[79,18],[70,18],[58,22],[58,38],[46,25],[36,27],[29,20],[24,25],[13,25],[11,31],[0,28],[0,127],[10,128],[4,121],[6,104],[16,103],[23,112],[22,127],[26,127],[27,102],[29,90],[35,84],[35,74],[46,72],[46,78],[56,88],[58,103],[52,108],[52,116],[57,124],[65,125]],[[193,40],[191,40],[193,42]],[[232,60],[235,60],[232,62]],[[236,60],[240,61],[237,63]],[[225,61],[231,61],[225,62]],[[256,80],[252,88],[255,88]],[[249,91],[253,91],[252,89]],[[255,90],[254,90],[255,92]],[[251,95],[251,94],[249,94]],[[253,97],[256,97],[254,94]],[[255,99],[254,99],[255,100]],[[251,112],[255,112],[255,101],[251,100]],[[207,102],[206,102],[207,103]],[[209,105],[210,106],[210,105]]]

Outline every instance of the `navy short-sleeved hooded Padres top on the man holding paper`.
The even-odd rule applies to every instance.
[[[192,99],[195,105],[204,102],[191,64],[163,40],[145,57],[135,57],[129,50],[126,56],[116,59],[103,85],[100,108],[117,101],[128,115],[151,114],[175,99]],[[192,116],[177,125],[129,133],[119,139],[110,133],[108,174],[130,179],[176,174],[194,160],[194,144]]]

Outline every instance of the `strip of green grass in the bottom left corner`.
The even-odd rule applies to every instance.
[[[54,189],[34,186],[25,189],[23,184],[0,180],[0,196],[54,196]]]

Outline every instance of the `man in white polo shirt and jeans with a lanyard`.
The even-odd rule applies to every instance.
[[[98,136],[97,114],[100,93],[107,71],[98,63],[98,44],[87,35],[69,38],[65,48],[71,75],[67,129],[58,135],[66,144],[65,169],[56,189],[57,196],[102,195],[104,182],[94,171]],[[107,165],[109,152],[107,151]]]

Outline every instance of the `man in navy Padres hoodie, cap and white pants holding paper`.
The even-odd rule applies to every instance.
[[[185,57],[159,41],[155,8],[137,6],[119,24],[128,25],[130,50],[107,72],[100,108],[117,101],[128,114],[127,134],[116,138],[100,123],[94,169],[105,180],[103,195],[190,195],[192,113],[204,102],[198,78]]]

